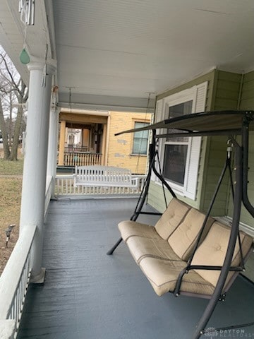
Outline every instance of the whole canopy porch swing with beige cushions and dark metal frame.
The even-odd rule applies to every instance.
[[[176,297],[189,295],[210,299],[196,326],[193,339],[198,339],[205,333],[205,326],[217,302],[225,299],[226,292],[236,276],[245,269],[244,263],[253,251],[253,238],[239,230],[241,203],[254,218],[254,207],[248,198],[248,138],[249,131],[254,130],[253,121],[254,111],[200,112],[121,132],[152,130],[150,167],[134,213],[130,220],[119,223],[121,239],[107,254],[113,254],[124,240],[157,295],[172,292]],[[157,133],[157,129],[174,131],[163,134]],[[225,165],[206,215],[179,201],[162,176],[157,140],[183,136],[229,137]],[[236,139],[237,136],[240,136],[241,144]],[[235,182],[231,172],[233,149]],[[226,171],[229,172],[234,200],[231,227],[210,217]],[[162,182],[165,202],[167,203],[165,187],[173,197],[163,214],[143,211],[152,172]],[[136,222],[142,214],[162,216],[155,227],[152,227]]]

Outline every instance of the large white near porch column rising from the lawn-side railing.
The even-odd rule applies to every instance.
[[[20,232],[37,225],[32,244],[32,282],[44,281],[42,268],[42,242],[44,232],[44,204],[47,174],[47,145],[49,135],[49,109],[52,90],[52,73],[55,67],[47,66],[46,87],[42,87],[44,62],[31,58],[29,107],[25,140],[23,187],[20,211]]]

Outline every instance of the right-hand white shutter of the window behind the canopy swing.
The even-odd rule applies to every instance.
[[[193,107],[193,112],[204,112],[205,111],[205,102],[207,97],[207,82],[202,83],[197,86],[196,97],[195,97],[195,107]],[[200,148],[201,148],[200,136],[191,138],[191,154],[188,169],[186,171],[186,189],[185,195],[188,198],[195,200],[196,190],[198,186],[198,167],[200,160]]]

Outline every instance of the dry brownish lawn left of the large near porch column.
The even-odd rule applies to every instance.
[[[19,232],[23,160],[0,159],[0,274],[4,270]],[[6,247],[8,225],[16,224]]]

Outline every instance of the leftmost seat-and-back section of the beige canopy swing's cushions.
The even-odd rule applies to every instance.
[[[121,237],[125,242],[129,237],[146,237],[152,239],[160,239],[162,237],[162,239],[168,239],[190,209],[191,206],[173,198],[167,210],[164,211],[161,218],[157,221],[155,227],[130,220],[119,222],[118,226]]]

